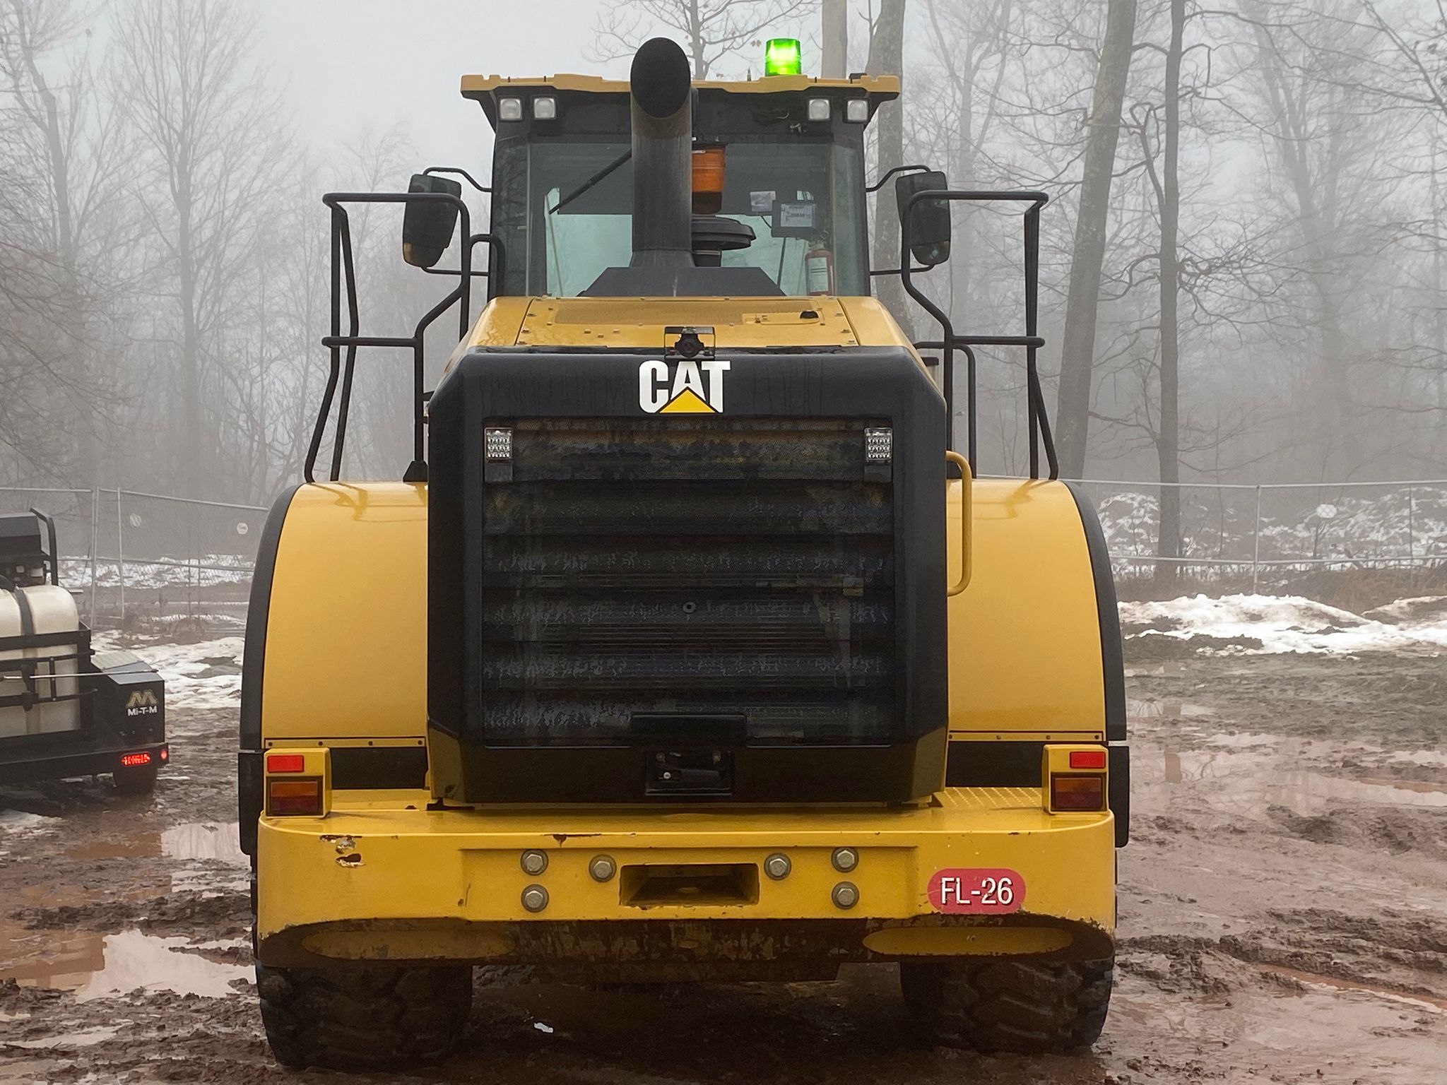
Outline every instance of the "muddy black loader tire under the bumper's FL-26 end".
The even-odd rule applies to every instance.
[[[900,988],[923,1039],[978,1052],[1068,1052],[1100,1039],[1114,958],[1049,962],[900,963]]]

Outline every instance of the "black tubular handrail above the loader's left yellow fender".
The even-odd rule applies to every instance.
[[[469,178],[470,179],[470,178]],[[363,336],[360,334],[360,310],[357,305],[356,262],[352,250],[352,221],[343,204],[407,204],[420,203],[449,203],[457,208],[462,221],[462,253],[456,269],[444,269],[436,273],[456,275],[457,286],[450,291],[437,305],[417,323],[411,336]],[[488,242],[496,253],[496,268],[489,259],[488,297],[496,292],[496,276],[502,275],[502,243],[492,234],[473,234],[472,217],[467,204],[460,197],[449,192],[328,192],[321,197],[321,203],[331,208],[331,334],[324,336],[321,344],[331,353],[331,366],[327,373],[327,386],[321,395],[321,409],[317,412],[317,424],[311,431],[311,443],[307,447],[307,463],[304,475],[307,482],[315,482],[317,457],[321,453],[321,438],[331,417],[331,404],[337,396],[337,382],[341,382],[341,398],[337,405],[337,425],[331,443],[331,472],[330,479],[336,482],[341,476],[341,453],[346,446],[347,415],[352,407],[352,380],[356,373],[356,356],[359,347],[410,347],[412,350],[412,461],[402,475],[404,482],[427,480],[425,459],[425,391],[423,388],[423,339],[433,321],[441,317],[449,308],[457,305],[457,337],[466,339],[467,323],[472,314],[472,252],[478,242]],[[347,295],[347,334],[341,334],[341,289],[346,285]],[[343,360],[343,350],[346,357]]]

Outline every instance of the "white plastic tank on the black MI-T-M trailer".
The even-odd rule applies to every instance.
[[[30,612],[30,621],[22,621],[20,596]],[[27,628],[30,626],[30,628]],[[25,634],[75,634],[74,639],[43,648],[0,650],[0,697],[25,693],[25,683],[14,673],[16,660],[42,660],[46,655],[69,655],[61,663],[38,663],[35,693],[39,697],[71,697],[54,703],[39,703],[26,710],[0,707],[0,738],[14,735],[49,735],[58,731],[75,731],[81,725],[81,703],[75,700],[80,692],[77,660],[80,650],[81,619],[75,599],[64,587],[36,584],[17,587],[13,592],[0,589],[0,641]]]

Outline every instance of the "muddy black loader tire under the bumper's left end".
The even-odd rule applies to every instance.
[[[441,1062],[472,1010],[472,968],[256,965],[262,1024],[291,1069],[386,1071]]]

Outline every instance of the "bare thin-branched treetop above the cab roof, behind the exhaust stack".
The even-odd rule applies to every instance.
[[[677,36],[706,80],[765,30],[800,20],[816,0],[608,0],[598,16],[595,59],[631,56],[655,33]]]

